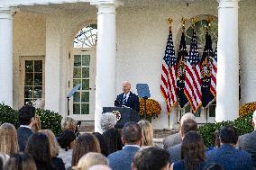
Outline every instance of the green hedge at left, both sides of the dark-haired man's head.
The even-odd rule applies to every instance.
[[[62,117],[57,112],[37,109],[36,114],[40,117],[41,129],[52,130],[56,136],[59,136],[61,132],[60,121]],[[8,105],[0,103],[0,124],[4,122],[14,124],[16,129],[20,126],[18,111],[12,109]]]

